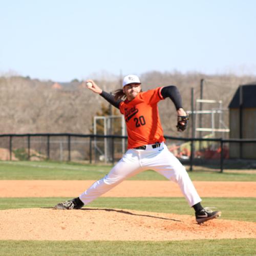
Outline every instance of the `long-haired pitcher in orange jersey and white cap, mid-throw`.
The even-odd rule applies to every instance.
[[[177,87],[158,87],[142,92],[139,77],[127,75],[123,79],[122,89],[115,91],[112,95],[102,91],[93,80],[88,80],[87,83],[90,90],[106,99],[124,115],[128,148],[108,175],[92,184],[79,197],[58,203],[55,208],[80,209],[123,180],[143,170],[152,169],[178,183],[189,206],[195,209],[197,223],[219,217],[220,211],[212,211],[201,205],[201,198],[185,167],[165,145],[157,106],[160,100],[170,98],[173,101],[178,116],[178,131],[184,131],[187,125],[188,117],[182,108],[182,100]]]

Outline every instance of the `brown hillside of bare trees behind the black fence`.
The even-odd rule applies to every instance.
[[[240,84],[255,81],[256,77],[234,75],[204,75],[198,73],[148,72],[141,76],[142,89],[157,86],[176,85],[182,95],[184,109],[190,110],[191,88],[195,98],[199,98],[200,80],[205,79],[203,96],[205,99],[223,101],[227,108],[234,92]],[[99,86],[107,91],[120,87],[120,79],[98,78]],[[84,82],[57,83],[25,77],[0,77],[1,133],[90,133],[92,117],[101,109],[101,103],[108,104],[98,95],[89,91]],[[204,105],[206,109],[216,108]],[[172,102],[159,103],[159,112],[165,135],[176,133],[176,112]],[[205,122],[209,120],[205,117]],[[224,121],[228,124],[228,112]],[[187,136],[188,130],[184,136]]]

